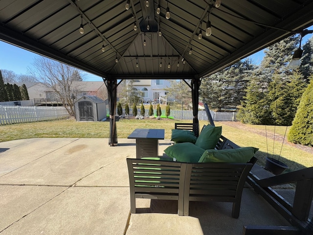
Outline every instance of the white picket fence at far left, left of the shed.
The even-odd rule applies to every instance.
[[[0,124],[68,118],[64,107],[0,106]]]

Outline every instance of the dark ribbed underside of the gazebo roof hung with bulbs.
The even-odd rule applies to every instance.
[[[312,0],[222,0],[219,8],[215,0],[129,0],[129,10],[126,2],[1,0],[0,40],[105,78],[179,79],[212,74],[313,24]]]

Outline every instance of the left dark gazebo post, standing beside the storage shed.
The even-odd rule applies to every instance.
[[[117,79],[104,79],[104,83],[108,89],[109,97],[109,113],[110,113],[110,135],[109,135],[109,145],[117,145],[117,135],[116,135],[116,123],[115,123],[115,112],[116,112],[116,90],[117,90]]]

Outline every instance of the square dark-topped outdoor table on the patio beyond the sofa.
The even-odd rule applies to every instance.
[[[135,129],[128,139],[136,139],[136,158],[157,157],[158,140],[164,140],[164,129]]]

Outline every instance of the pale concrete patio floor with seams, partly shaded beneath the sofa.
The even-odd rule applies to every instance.
[[[160,141],[159,154],[170,145]],[[126,158],[135,140],[45,138],[0,142],[1,235],[239,235],[243,226],[290,224],[253,189],[238,219],[231,203],[137,199],[130,213]],[[256,171],[262,171],[259,167]]]

